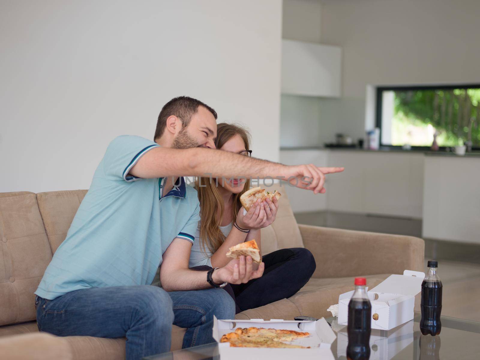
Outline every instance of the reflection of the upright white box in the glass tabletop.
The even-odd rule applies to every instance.
[[[370,335],[370,360],[390,360],[413,342],[413,320],[397,326],[384,336],[386,331],[372,330]],[[338,332],[336,355],[347,356],[347,326]]]

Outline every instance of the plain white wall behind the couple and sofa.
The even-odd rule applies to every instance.
[[[278,161],[281,6],[1,1],[0,192],[88,188],[108,142],[153,138],[179,95],[249,126],[254,156]]]

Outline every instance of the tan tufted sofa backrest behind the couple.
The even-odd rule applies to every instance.
[[[276,221],[262,229],[262,253],[303,247],[285,189]],[[0,326],[36,319],[34,291],[65,240],[86,190],[0,193]]]

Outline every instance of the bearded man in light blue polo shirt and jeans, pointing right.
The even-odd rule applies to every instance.
[[[126,337],[128,360],[168,351],[172,323],[187,328],[183,347],[213,341],[213,316],[235,315],[219,288],[262,276],[264,265],[252,271],[247,257],[208,272],[188,268],[200,209],[182,176],[310,176],[299,186],[324,192],[323,174],[334,172],[207,149],[215,136],[215,110],[181,96],[162,108],[155,142],[119,136],[108,145],[35,292],[40,330]],[[162,287],[151,286],[159,266]]]

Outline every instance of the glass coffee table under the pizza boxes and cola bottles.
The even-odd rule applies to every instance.
[[[420,333],[420,312],[413,320],[394,329],[372,329],[370,359],[478,359],[480,357],[480,322],[442,316],[442,332],[437,336]],[[327,318],[337,335],[331,350],[335,359],[347,359],[347,326],[338,325],[336,318]],[[216,343],[196,346],[164,354],[149,356],[144,360],[204,360],[220,359]],[[223,359],[222,359],[223,360]]]

